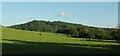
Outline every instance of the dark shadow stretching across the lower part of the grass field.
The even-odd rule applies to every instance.
[[[86,45],[68,43],[28,42],[21,40],[9,40],[15,43],[3,43],[3,54],[118,54],[118,45]],[[70,46],[69,46],[70,45]],[[111,49],[97,49],[72,46],[106,47]]]

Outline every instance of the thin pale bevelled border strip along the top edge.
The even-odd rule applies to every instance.
[[[119,0],[1,0],[3,2],[118,2]]]

